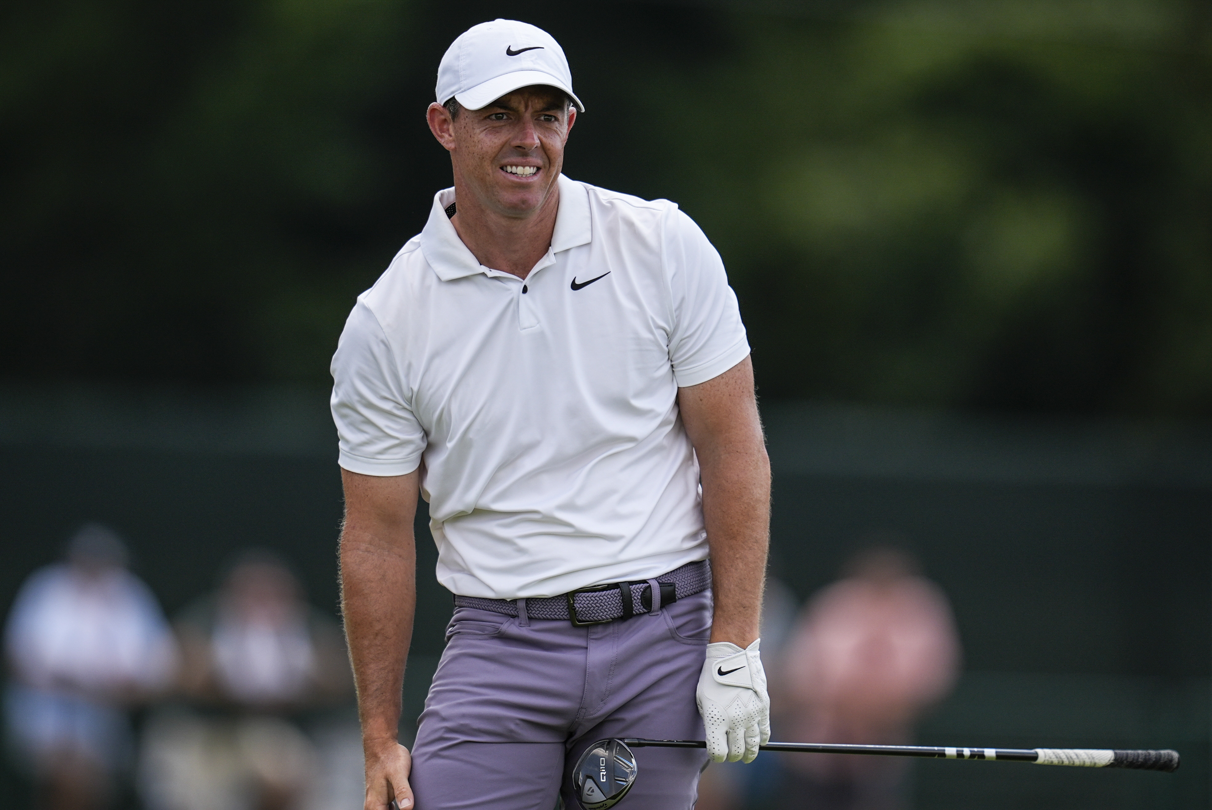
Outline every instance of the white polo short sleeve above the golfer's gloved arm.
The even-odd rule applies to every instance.
[[[665,225],[674,328],[669,360],[679,387],[705,383],[749,355],[737,295],[707,235],[674,208]]]

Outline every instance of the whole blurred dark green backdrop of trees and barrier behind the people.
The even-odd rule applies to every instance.
[[[335,604],[328,358],[450,184],[424,108],[494,17],[568,53],[567,174],[722,253],[796,594],[890,529],[954,599],[968,674],[922,740],[1187,757],[924,763],[919,806],[1208,806],[1204,1],[0,7],[2,604],[85,519],[170,609],[252,544]]]

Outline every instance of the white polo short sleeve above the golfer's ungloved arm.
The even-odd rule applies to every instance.
[[[332,356],[338,463],[367,476],[402,476],[421,464],[425,432],[404,395],[400,368],[375,312],[359,299]]]

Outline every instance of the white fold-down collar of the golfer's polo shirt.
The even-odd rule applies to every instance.
[[[560,208],[555,212],[551,253],[588,245],[593,240],[589,191],[564,174],[556,178],[556,183],[560,184]],[[446,216],[446,208],[452,202],[454,202],[454,189],[442,189],[435,194],[434,205],[429,209],[429,220],[421,231],[421,252],[442,281],[453,281],[485,271],[458,237],[458,231]]]

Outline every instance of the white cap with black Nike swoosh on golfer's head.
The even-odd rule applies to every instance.
[[[555,38],[516,19],[473,25],[446,48],[438,65],[438,103],[454,98],[469,110],[487,107],[519,87],[550,85],[585,105],[572,92],[572,71]]]

